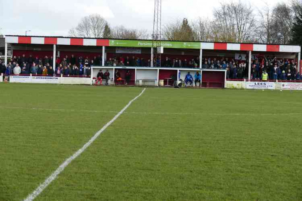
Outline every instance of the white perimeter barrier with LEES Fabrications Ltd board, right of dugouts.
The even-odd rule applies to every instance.
[[[226,88],[302,90],[302,82],[226,81]]]

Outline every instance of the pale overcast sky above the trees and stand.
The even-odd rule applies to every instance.
[[[162,24],[171,20],[211,17],[213,8],[227,0],[162,0]],[[235,2],[236,0],[234,0]],[[241,0],[255,10],[288,0]],[[153,26],[154,0],[0,0],[2,34],[67,36],[86,15],[98,13],[111,26],[148,29]]]

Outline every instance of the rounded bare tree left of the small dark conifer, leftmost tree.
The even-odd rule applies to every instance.
[[[69,30],[72,37],[101,38],[107,21],[99,14],[91,14],[81,19],[80,23]]]

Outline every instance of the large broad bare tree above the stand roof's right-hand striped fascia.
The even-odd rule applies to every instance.
[[[214,20],[219,41],[248,42],[253,40],[255,15],[251,5],[230,2],[214,9]]]

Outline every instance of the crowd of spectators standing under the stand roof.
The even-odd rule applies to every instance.
[[[44,75],[44,76],[80,76],[86,77],[91,74],[91,66],[101,66],[102,57],[94,56],[93,59],[89,57],[80,56],[76,58],[74,55],[64,56],[60,58],[57,56],[55,60],[55,68],[52,64],[54,58],[38,56],[27,58],[25,55],[14,56],[8,65],[5,66],[0,60],[0,73],[15,74],[15,75]],[[159,65],[159,63],[161,63]],[[106,66],[151,66],[150,59],[139,57],[113,57],[105,61]],[[202,69],[225,69],[227,79],[243,79],[248,77],[248,61],[234,60],[232,58],[221,57],[216,58],[200,58],[179,59],[165,57],[159,60],[153,60],[154,66],[161,66],[165,68],[202,68]],[[292,59],[273,59],[263,57],[255,59],[251,64],[251,79],[261,80],[262,74],[268,73],[269,80],[302,80],[300,73],[297,72],[297,63]]]

